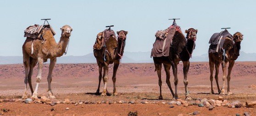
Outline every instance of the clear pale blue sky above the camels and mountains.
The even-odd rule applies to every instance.
[[[244,35],[241,50],[256,53],[255,0],[0,0],[0,56],[22,56],[24,30],[40,19],[51,18],[50,25],[59,41],[60,28],[73,28],[67,55],[93,52],[96,35],[115,25],[114,31],[128,31],[125,51],[151,51],[157,30],[177,24],[184,30],[198,30],[193,55],[207,53],[208,41],[222,27],[233,35]],[[125,54],[125,53],[124,53]]]

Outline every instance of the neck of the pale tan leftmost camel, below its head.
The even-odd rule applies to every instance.
[[[61,36],[61,39],[60,39],[60,41],[58,43],[59,50],[57,52],[57,57],[60,57],[61,55],[64,54],[64,52],[65,52],[65,50],[67,48],[68,41],[69,41],[68,37]]]

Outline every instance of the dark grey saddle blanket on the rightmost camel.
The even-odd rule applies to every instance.
[[[234,40],[228,30],[221,31],[220,33],[214,33],[209,40],[209,44],[211,45],[209,46],[208,53],[219,53],[220,50],[223,49],[223,43],[226,38]]]

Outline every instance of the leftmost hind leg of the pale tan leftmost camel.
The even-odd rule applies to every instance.
[[[30,60],[29,60],[29,55],[25,51],[23,51],[23,65],[25,68],[25,79],[24,79],[25,91],[22,96],[22,99],[27,99],[28,98],[28,95],[27,95],[28,70],[29,70]]]

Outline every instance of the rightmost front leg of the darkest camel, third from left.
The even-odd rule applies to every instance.
[[[190,62],[189,61],[183,61],[183,74],[184,74],[184,85],[185,85],[185,100],[186,101],[190,101],[192,98],[189,96],[189,90],[188,90],[188,84],[189,84],[189,81],[187,79],[187,75],[188,75],[188,72],[189,72],[189,66],[190,66]]]

